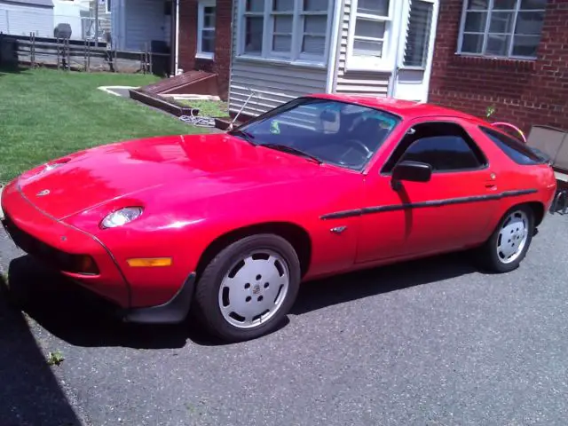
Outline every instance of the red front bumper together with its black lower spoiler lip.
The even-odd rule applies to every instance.
[[[36,209],[20,193],[16,183],[4,187],[0,197],[0,209],[4,209],[2,225],[16,245],[29,255],[43,260],[52,269],[58,270],[83,288],[110,301],[117,306],[117,313],[125,322],[178,323],[183,321],[189,312],[195,285],[194,272],[186,277],[183,285],[167,302],[143,307],[133,306],[129,281],[126,280],[110,250],[97,237]],[[69,272],[66,260],[76,255],[91,256],[98,272],[91,275]],[[138,292],[147,292],[151,289],[142,286],[138,288]]]

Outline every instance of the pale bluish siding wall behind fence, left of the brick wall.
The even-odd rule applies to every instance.
[[[161,0],[125,1],[125,48],[139,51],[152,40],[166,41],[164,5]]]

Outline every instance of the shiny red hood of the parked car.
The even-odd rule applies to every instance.
[[[121,197],[140,200],[150,188],[179,193],[183,185],[192,199],[339,172],[227,134],[170,136],[71,154],[23,174],[19,187],[60,220]]]

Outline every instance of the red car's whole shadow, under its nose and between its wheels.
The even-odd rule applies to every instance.
[[[402,288],[432,284],[476,270],[462,254],[353,272],[302,285],[292,315],[302,315]],[[176,326],[124,324],[113,309],[59,274],[45,270],[30,256],[12,260],[12,291],[20,295],[21,308],[52,335],[75,346],[122,346],[136,349],[181,348],[187,339],[201,345],[209,340],[188,319]],[[286,327],[288,320],[281,327]]]

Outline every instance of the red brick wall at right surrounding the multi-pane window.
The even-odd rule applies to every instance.
[[[440,0],[430,79],[432,103],[508,121],[530,130],[544,124],[568,130],[568,0],[548,0],[536,60],[456,55],[463,0]]]

